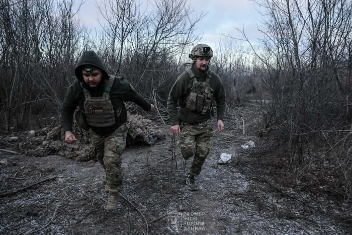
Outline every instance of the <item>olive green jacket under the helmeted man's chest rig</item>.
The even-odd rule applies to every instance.
[[[194,67],[192,66],[193,71]],[[208,69],[207,72],[203,73],[199,77],[197,76],[198,82],[205,82],[208,73],[211,73],[210,87],[214,90],[214,100],[216,102],[217,118],[224,120],[225,106],[226,106],[226,95],[224,85],[220,77]],[[195,72],[197,75],[197,73]],[[183,72],[176,82],[174,83],[167,99],[167,111],[170,117],[171,125],[180,124],[180,122],[187,122],[191,125],[195,125],[204,122],[211,118],[211,113],[201,114],[199,112],[193,112],[186,107],[181,106],[179,111],[177,106],[180,101],[187,98],[190,93],[190,89],[193,85],[193,81],[190,78],[187,71]],[[182,103],[182,102],[181,102]]]

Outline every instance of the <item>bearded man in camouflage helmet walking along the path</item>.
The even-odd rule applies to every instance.
[[[217,129],[224,130],[225,90],[220,77],[209,69],[212,56],[210,46],[196,45],[189,55],[192,67],[178,77],[167,99],[171,131],[179,134],[182,156],[185,160],[194,157],[186,178],[190,190],[198,190],[195,176],[200,174],[212,145],[213,101],[217,108]]]

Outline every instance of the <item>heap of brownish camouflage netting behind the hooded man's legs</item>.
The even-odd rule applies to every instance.
[[[159,126],[137,114],[128,115],[127,125],[129,127],[127,134],[128,145],[143,142],[153,145],[157,139],[165,137]],[[58,154],[75,161],[94,159],[94,147],[89,141],[89,132],[80,129],[75,121],[73,122],[72,131],[78,138],[74,144],[66,144],[62,141],[64,135],[59,125],[52,129],[43,128],[38,131],[28,132],[25,140],[19,141],[18,147],[25,154],[32,156]]]

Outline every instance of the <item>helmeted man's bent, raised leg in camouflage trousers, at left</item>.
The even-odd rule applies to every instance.
[[[194,126],[188,123],[181,124],[181,131],[178,138],[178,145],[181,148],[182,156],[188,160],[196,152],[196,138]]]

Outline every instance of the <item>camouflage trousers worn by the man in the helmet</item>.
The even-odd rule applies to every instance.
[[[189,174],[198,176],[213,143],[210,119],[197,125],[183,122],[180,127],[178,145],[181,147],[182,156],[188,160],[194,155]]]

